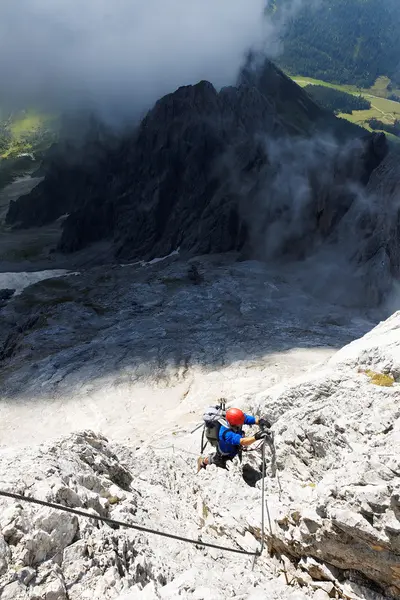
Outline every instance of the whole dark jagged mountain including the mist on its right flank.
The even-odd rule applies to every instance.
[[[115,261],[178,250],[296,261],[322,245],[324,272],[328,255],[338,260],[342,235],[341,301],[379,304],[398,270],[396,253],[379,234],[376,251],[354,263],[364,233],[360,224],[350,234],[345,223],[350,210],[360,221],[375,210],[365,186],[387,152],[383,135],[336,118],[270,61],[260,68],[249,56],[237,86],[184,86],[157,101],[135,131],[115,134],[94,120],[79,146],[54,146],[44,180],[11,202],[7,223],[29,228],[64,216],[59,252],[107,242]],[[379,285],[368,268],[355,276],[381,248]]]

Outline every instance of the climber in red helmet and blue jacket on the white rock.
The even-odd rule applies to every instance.
[[[230,408],[226,411],[225,419],[226,426],[219,425],[217,451],[206,458],[202,456],[198,458],[197,472],[205,469],[207,465],[226,469],[226,463],[240,455],[243,448],[270,435],[266,430],[271,428],[271,423],[265,417],[253,417],[246,415],[239,408]],[[260,430],[250,437],[245,437],[243,425],[258,425]]]

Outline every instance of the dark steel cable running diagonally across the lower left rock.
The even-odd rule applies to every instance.
[[[206,548],[214,548],[216,550],[223,550],[224,552],[234,552],[235,554],[245,554],[247,556],[260,556],[260,550],[256,550],[255,552],[249,552],[247,550],[239,550],[237,548],[229,548],[227,546],[219,546],[218,544],[211,544],[210,542],[203,542],[202,540],[193,540],[190,538],[182,537],[179,535],[174,535],[172,533],[166,533],[165,531],[159,531],[157,529],[151,529],[149,527],[143,527],[141,525],[133,525],[131,523],[125,523],[123,521],[117,521],[115,519],[110,519],[108,517],[101,517],[100,515],[94,515],[89,512],[85,512],[83,510],[77,510],[75,508],[69,508],[68,506],[62,506],[61,504],[54,504],[52,502],[46,502],[45,500],[38,500],[37,498],[32,498],[30,496],[22,496],[21,494],[14,494],[12,492],[4,492],[0,490],[0,496],[4,498],[12,498],[13,500],[19,500],[20,502],[29,502],[31,504],[38,504],[39,506],[46,506],[47,508],[54,508],[55,510],[61,510],[63,512],[71,513],[73,515],[77,515],[78,517],[85,517],[88,519],[95,519],[96,521],[102,521],[104,523],[108,523],[109,525],[116,525],[118,527],[125,527],[127,529],[136,529],[137,531],[141,531],[143,533],[152,533],[154,535],[159,535],[161,537],[170,538],[172,540],[179,540],[181,542],[186,542],[187,544],[195,544],[196,546],[204,546]]]

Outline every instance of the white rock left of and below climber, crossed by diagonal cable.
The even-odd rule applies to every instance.
[[[184,455],[172,460],[152,450],[140,455],[89,431],[17,456],[3,451],[0,487],[228,548],[251,552],[258,546],[240,514],[225,525],[212,515]],[[284,584],[273,581],[273,568],[264,560],[252,572],[246,557],[54,509],[0,502],[0,594],[5,600],[216,600],[249,598],[256,589],[268,590],[272,598],[285,596]]]

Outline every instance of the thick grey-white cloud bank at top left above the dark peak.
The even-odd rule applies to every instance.
[[[0,102],[145,109],[235,81],[265,45],[264,0],[2,0]]]

